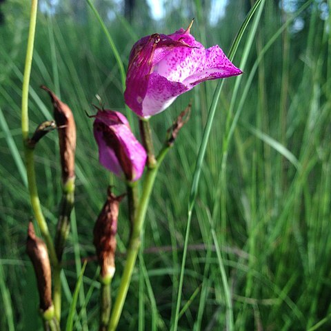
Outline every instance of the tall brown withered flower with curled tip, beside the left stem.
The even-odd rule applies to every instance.
[[[54,106],[54,119],[59,131],[59,146],[62,168],[62,181],[74,177],[74,152],[76,150],[76,125],[72,111],[49,88],[41,86],[52,99]]]

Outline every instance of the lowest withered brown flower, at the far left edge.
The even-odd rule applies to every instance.
[[[32,222],[29,222],[26,252],[32,261],[34,272],[37,277],[40,309],[45,312],[52,306],[52,274],[50,271],[50,259],[48,257],[46,243],[36,237]]]

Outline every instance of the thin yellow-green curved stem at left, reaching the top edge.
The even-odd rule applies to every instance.
[[[48,231],[48,225],[43,212],[41,211],[41,205],[39,201],[39,195],[37,190],[36,174],[34,170],[34,150],[28,146],[28,135],[29,135],[29,114],[28,114],[28,99],[29,99],[29,83],[32,66],[32,54],[34,46],[34,34],[36,30],[37,21],[37,8],[38,0],[32,0],[31,12],[30,12],[30,28],[28,35],[28,46],[26,50],[26,63],[24,68],[23,76],[23,87],[22,87],[22,104],[21,104],[21,128],[23,137],[23,148],[26,159],[26,172],[28,177],[28,188],[30,194],[30,201],[32,209],[34,211],[34,217],[37,219],[37,223],[41,230],[41,234],[46,241],[48,252],[50,254],[50,261],[52,265],[57,265],[57,255],[55,254],[54,244],[50,232]]]

